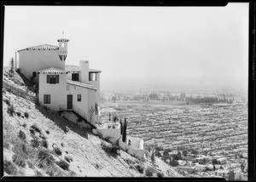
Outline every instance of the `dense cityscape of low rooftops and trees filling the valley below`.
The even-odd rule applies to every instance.
[[[242,92],[102,94],[102,120],[127,118],[128,133],[187,177],[247,179],[247,95]]]

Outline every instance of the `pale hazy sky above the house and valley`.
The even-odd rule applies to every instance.
[[[67,65],[89,60],[103,88],[247,88],[248,3],[225,7],[6,6],[3,65],[64,37]]]

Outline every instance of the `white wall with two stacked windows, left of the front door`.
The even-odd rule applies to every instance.
[[[52,74],[55,75],[55,74]],[[39,76],[39,102],[42,105],[49,106],[52,111],[59,111],[59,105],[67,105],[67,94],[63,92],[66,90],[67,79],[66,74],[58,74],[59,83],[47,83],[47,74],[40,73]],[[44,104],[44,94],[50,94],[50,104]]]

